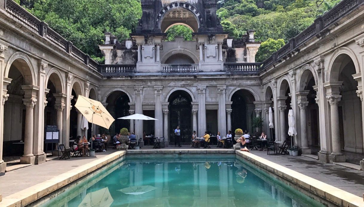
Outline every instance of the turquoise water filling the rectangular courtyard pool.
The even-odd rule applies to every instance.
[[[235,155],[128,155],[32,206],[323,206]]]

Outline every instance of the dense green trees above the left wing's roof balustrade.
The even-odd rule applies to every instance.
[[[33,3],[29,7],[29,3]],[[33,15],[70,40],[84,53],[102,62],[99,44],[104,33],[111,32],[119,41],[135,32],[141,17],[140,0],[21,0]]]

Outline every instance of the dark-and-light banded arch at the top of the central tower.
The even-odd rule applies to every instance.
[[[176,2],[166,5],[165,7],[162,8],[161,11],[159,11],[157,13],[157,17],[155,18],[155,28],[162,29],[161,28],[162,22],[163,22],[165,16],[168,13],[170,13],[176,9],[184,9],[193,14],[193,16],[195,17],[197,24],[198,24],[197,28],[193,29],[194,32],[198,32],[198,28],[203,27],[205,25],[202,13],[198,11],[196,6],[194,6],[193,4],[190,4],[188,2],[176,1]],[[183,23],[183,22],[181,22],[181,23]],[[165,31],[161,31],[161,32],[165,32]]]

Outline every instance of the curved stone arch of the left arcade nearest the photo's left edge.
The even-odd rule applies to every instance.
[[[16,52],[8,59],[8,62],[5,67],[4,77],[8,77],[10,67],[13,63],[25,64],[27,67],[18,68],[21,75],[23,75],[25,84],[27,85],[35,85],[37,83],[35,67],[32,64],[30,57],[23,52]]]

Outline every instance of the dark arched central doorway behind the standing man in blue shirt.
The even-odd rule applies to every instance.
[[[169,99],[169,131],[170,142],[174,143],[174,129],[181,129],[181,144],[189,145],[191,142],[191,96],[185,91],[173,92]]]

